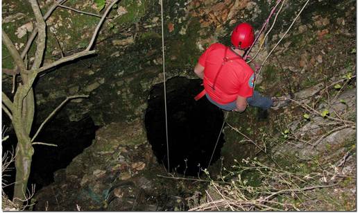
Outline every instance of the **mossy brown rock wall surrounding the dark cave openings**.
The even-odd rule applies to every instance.
[[[40,2],[43,13],[51,3]],[[164,62],[167,79],[174,76],[197,78],[193,68],[207,46],[214,42],[230,45],[232,27],[239,22],[250,22],[255,32],[259,31],[274,3],[260,0],[164,1],[162,35],[158,1],[121,1],[101,30],[94,48],[96,56],[56,67],[41,76],[35,85],[37,125],[67,96],[89,94],[89,99],[69,103],[60,113],[70,121],[79,121],[89,115],[101,126],[93,145],[74,158],[69,167],[57,171],[52,185],[38,191],[36,210],[173,210],[178,198],[167,196],[171,194],[168,188],[173,186],[167,181],[158,182],[153,175],[162,173],[163,169],[153,158],[142,123],[149,91],[153,85],[164,81]],[[286,1],[273,31],[266,40],[264,36],[259,38],[262,50],[256,62],[263,62],[303,3]],[[27,1],[16,0],[4,0],[2,6],[3,31],[22,51],[26,35],[34,27],[31,7]],[[67,1],[66,6],[101,13],[93,0]],[[356,93],[350,90],[350,87],[355,88],[352,82],[357,51],[354,45],[355,7],[350,0],[339,3],[311,1],[266,62],[258,76],[257,90],[267,96],[296,94],[297,101],[313,105],[319,112],[327,110],[332,117],[338,112],[342,119],[355,119]],[[48,42],[44,63],[83,49],[98,21],[95,16],[56,9],[46,20]],[[162,36],[165,61],[162,60]],[[2,68],[13,68],[7,49],[3,46],[2,50]],[[255,56],[257,51],[258,45],[251,55]],[[33,50],[28,59],[29,62],[33,60]],[[3,78],[3,91],[10,94],[12,79],[5,74],[3,77],[6,77]],[[342,87],[336,97],[338,90],[332,92],[330,87],[335,82]],[[299,142],[275,146],[273,155],[291,155],[303,161],[317,156],[326,160],[341,157],[346,151],[345,144],[351,145],[355,139],[354,125],[326,128],[327,118],[311,114],[309,121],[302,120],[302,112],[292,106],[270,112],[268,121],[258,121],[257,112],[249,107],[244,114],[230,114],[228,123],[255,142],[264,143],[258,143],[258,147],[266,151],[267,135],[280,135],[278,129],[286,118],[299,117],[289,123],[289,130],[296,134]],[[226,126],[224,131],[227,143],[221,154],[226,160],[225,167],[230,168],[237,157],[253,156],[260,151],[257,144],[254,146],[233,128]],[[171,183],[176,185],[176,182]],[[160,196],[164,196],[164,204],[159,202],[158,205]]]

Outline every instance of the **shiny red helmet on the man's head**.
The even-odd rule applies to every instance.
[[[239,49],[248,49],[255,39],[253,27],[248,23],[238,24],[231,34],[231,43]]]

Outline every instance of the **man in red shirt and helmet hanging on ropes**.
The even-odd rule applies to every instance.
[[[199,58],[194,68],[196,75],[203,79],[202,96],[227,111],[244,112],[246,106],[253,105],[267,110],[273,105],[271,98],[253,91],[255,75],[242,58],[254,42],[253,27],[241,23],[231,35],[232,46],[212,44]]]

